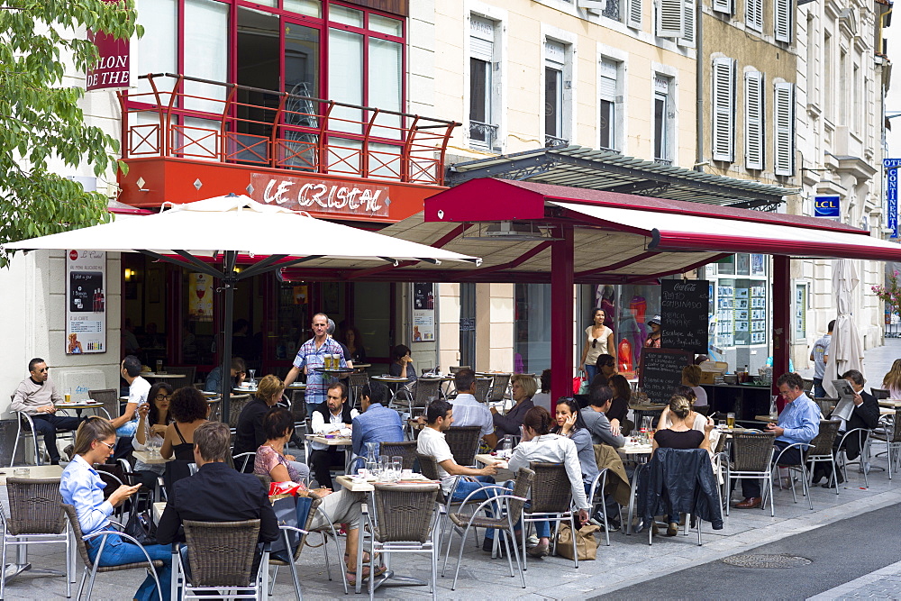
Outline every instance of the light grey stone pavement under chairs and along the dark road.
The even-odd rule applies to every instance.
[[[901,340],[889,340],[886,347],[867,351],[867,376],[870,384],[881,384],[882,376],[890,367],[892,360],[901,356]],[[883,448],[874,445],[874,452]],[[873,460],[874,467],[885,467],[886,460],[879,457]],[[734,510],[725,519],[723,530],[713,531],[709,524],[704,524],[704,545],[698,547],[694,535],[678,535],[672,538],[657,537],[653,546],[648,545],[646,535],[626,536],[624,533],[611,534],[611,546],[606,547],[601,539],[597,557],[594,561],[579,562],[574,569],[572,561],[561,557],[548,557],[543,560],[530,560],[526,572],[526,588],[520,587],[518,575],[511,578],[506,560],[491,560],[477,549],[469,539],[463,553],[460,568],[460,580],[456,590],[451,590],[454,560],[448,566],[450,577],[439,577],[438,594],[441,599],[484,599],[497,598],[532,598],[532,599],[584,599],[587,596],[612,594],[623,587],[659,578],[692,566],[721,560],[735,553],[750,552],[760,545],[778,541],[796,533],[833,524],[836,520],[851,515],[864,514],[888,505],[901,502],[901,478],[889,480],[885,472],[872,471],[869,474],[869,488],[863,487],[862,474],[856,469],[849,470],[849,481],[842,487],[840,494],[822,487],[814,487],[811,491],[814,511],[811,511],[805,499],[799,496],[800,503],[793,503],[791,492],[776,490],[776,517],[770,517],[769,511]],[[453,551],[458,549],[459,539],[454,540]],[[318,541],[315,541],[318,542]],[[343,540],[341,540],[343,545]],[[443,550],[442,550],[443,552]],[[442,556],[443,557],[443,556]],[[61,569],[63,554],[59,546],[48,545],[42,549],[30,551],[29,560],[35,568]],[[323,550],[306,548],[297,563],[304,596],[308,600],[330,599],[343,596],[340,576],[335,569],[338,558],[334,557],[332,548],[332,575],[329,580],[324,568]],[[416,575],[428,578],[429,564],[426,557],[420,555],[402,555],[394,559],[394,567],[398,574]],[[82,569],[78,560],[78,569]],[[441,565],[439,566],[441,571]],[[80,577],[80,571],[79,571]],[[865,578],[870,578],[864,581]],[[95,599],[128,599],[132,598],[143,579],[140,569],[100,574],[96,579],[93,598]],[[855,583],[858,583],[855,585]],[[880,569],[867,577],[849,583],[856,588],[842,593],[838,589],[827,591],[823,598],[835,598],[839,595],[854,596],[864,589],[874,588],[870,596],[893,596],[901,598],[901,564]],[[687,587],[690,586],[688,583]],[[724,584],[724,586],[727,586]],[[887,590],[889,587],[891,590]],[[365,589],[364,589],[365,590]],[[6,587],[6,599],[52,599],[65,596],[65,584],[61,578],[25,573],[14,578]],[[894,594],[892,593],[894,591]],[[677,591],[674,591],[678,594]],[[352,593],[351,593],[352,595]],[[386,587],[376,592],[378,598],[415,598],[430,596],[427,587]],[[690,596],[690,591],[685,591]],[[291,599],[294,590],[290,573],[280,569],[276,580],[273,599]]]

